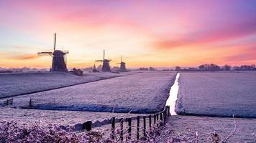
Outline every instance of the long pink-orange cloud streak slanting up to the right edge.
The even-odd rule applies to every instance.
[[[253,20],[238,24],[227,24],[226,26],[212,29],[201,29],[178,39],[162,39],[161,37],[160,40],[153,42],[152,45],[160,49],[173,49],[178,46],[221,43],[250,35],[256,35],[256,21]]]

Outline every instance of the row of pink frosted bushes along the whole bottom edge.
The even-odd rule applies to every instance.
[[[235,129],[234,129],[235,130]],[[44,143],[44,142],[108,142],[115,143],[120,141],[120,129],[116,128],[114,132],[115,138],[112,140],[109,131],[101,132],[74,132],[73,127],[63,127],[58,126],[57,124],[42,124],[41,122],[35,122],[33,124],[18,124],[15,121],[0,121],[0,142],[35,142],[35,143]],[[126,132],[124,130],[124,132]],[[128,139],[127,132],[124,135],[124,142],[191,142],[198,143],[198,132],[186,132],[180,134],[176,132],[175,129],[171,129],[169,126],[163,126],[163,122],[157,122],[157,124],[152,124],[150,129],[147,129],[147,137],[142,137],[140,140],[137,139]],[[233,132],[230,133],[233,135]],[[219,138],[219,135],[214,132],[210,134],[207,139],[209,142],[227,142],[227,139],[231,135],[222,139]],[[252,134],[254,141],[255,134]]]

